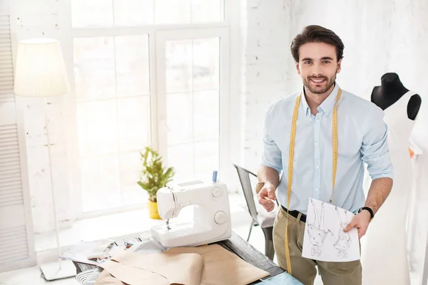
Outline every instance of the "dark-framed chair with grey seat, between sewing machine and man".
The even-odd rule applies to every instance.
[[[275,249],[273,248],[273,222],[275,222],[275,212],[268,213],[265,209],[258,210],[254,201],[255,192],[251,186],[250,175],[257,177],[250,170],[246,170],[239,165],[235,165],[236,170],[238,171],[238,177],[240,184],[243,187],[243,192],[245,196],[245,201],[247,202],[248,212],[250,213],[251,218],[253,219],[250,224],[250,232],[248,232],[247,242],[250,239],[251,230],[255,226],[260,226],[263,229],[263,234],[265,234],[265,255],[269,257],[270,260],[273,259],[275,254]]]

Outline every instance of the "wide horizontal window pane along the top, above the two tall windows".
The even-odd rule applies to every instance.
[[[224,21],[224,0],[71,0],[75,28]]]

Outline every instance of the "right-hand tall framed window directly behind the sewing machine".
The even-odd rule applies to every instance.
[[[209,180],[220,167],[220,98],[227,93],[222,88],[228,76],[227,31],[159,32],[156,40],[156,50],[165,54],[157,61],[162,71],[158,94],[159,112],[168,129],[165,137],[159,137],[160,148],[181,180]]]

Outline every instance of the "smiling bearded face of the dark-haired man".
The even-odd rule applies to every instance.
[[[336,48],[327,43],[305,43],[299,48],[297,73],[303,85],[314,94],[324,94],[335,84],[342,59],[337,62]]]

